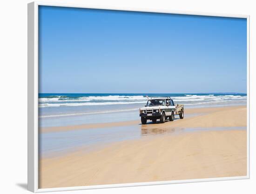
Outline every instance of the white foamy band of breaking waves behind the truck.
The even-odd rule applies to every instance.
[[[247,96],[242,95],[196,95],[186,94],[185,96],[171,97],[175,103],[204,104],[208,102],[229,102],[241,101],[245,102]],[[98,106],[98,105],[122,105],[122,104],[142,104],[146,103],[147,98],[139,96],[127,95],[108,95],[108,96],[85,96],[85,97],[66,97],[54,96],[53,98],[40,98],[39,107],[78,107],[78,106]]]

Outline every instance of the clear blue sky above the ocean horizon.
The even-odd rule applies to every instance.
[[[246,93],[246,19],[39,8],[40,93]]]

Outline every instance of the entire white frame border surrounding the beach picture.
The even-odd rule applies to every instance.
[[[111,184],[111,185],[96,185],[96,186],[80,186],[80,187],[57,187],[57,188],[39,188],[38,177],[38,7],[39,6],[56,6],[56,7],[78,7],[91,9],[107,9],[107,10],[121,10],[121,11],[138,11],[151,13],[174,13],[174,14],[189,14],[202,16],[217,16],[217,17],[233,17],[247,19],[247,175],[235,177],[221,177],[221,178],[207,178],[207,179],[189,179],[178,181],[154,181],[154,182],[138,182],[125,184]],[[133,187],[133,186],[147,186],[147,185],[162,185],[162,184],[176,184],[202,181],[227,181],[227,180],[241,180],[249,179],[249,126],[250,126],[250,95],[249,95],[249,15],[235,15],[222,13],[197,13],[197,12],[182,12],[166,9],[144,9],[135,7],[100,7],[92,5],[77,5],[77,4],[62,4],[62,3],[47,3],[47,2],[32,2],[27,5],[27,61],[28,61],[28,78],[27,78],[27,189],[34,193],[37,192],[51,192],[51,191],[70,191],[82,189],[96,189],[96,188],[112,188],[112,187]]]

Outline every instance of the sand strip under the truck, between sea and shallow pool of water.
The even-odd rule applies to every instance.
[[[243,115],[240,120],[240,114],[234,114],[233,111],[243,111]],[[198,114],[209,114],[215,113],[214,115],[206,116],[206,120],[202,120],[202,117],[197,116]],[[221,113],[221,115],[218,115]],[[191,118],[186,118],[187,114],[195,114]],[[230,122],[225,122],[224,119],[220,119],[219,116],[229,117],[229,114],[232,114],[235,118],[231,119]],[[215,117],[214,119],[212,117]],[[210,117],[210,118],[209,118]],[[175,115],[175,118],[179,118],[178,115]],[[230,118],[230,117],[229,117]],[[191,126],[191,120],[195,120],[194,124]],[[209,125],[207,120],[212,121]],[[234,122],[234,121],[238,122]],[[204,122],[203,122],[204,121]],[[189,108],[185,109],[185,119],[176,120],[175,123],[172,123],[172,126],[175,124],[177,126],[187,126],[189,127],[240,127],[244,126],[241,123],[246,123],[246,107],[245,106],[234,106],[234,107],[213,107],[213,108]],[[148,121],[149,122],[149,121]],[[40,128],[40,133],[49,133],[49,132],[61,132],[61,131],[69,131],[69,130],[79,130],[79,129],[91,129],[91,128],[102,128],[102,127],[122,127],[128,125],[136,125],[140,124],[140,120],[130,120],[130,121],[121,121],[121,122],[112,122],[112,123],[95,123],[95,124],[82,124],[82,125],[72,125],[72,126],[60,126],[60,127],[44,127]],[[149,122],[150,123],[150,122]],[[169,125],[170,123],[166,123],[165,125]],[[159,124],[158,124],[159,125]],[[164,124],[159,125],[158,127],[163,127]]]

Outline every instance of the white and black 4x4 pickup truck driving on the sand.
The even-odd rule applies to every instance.
[[[140,108],[142,124],[146,124],[147,120],[152,120],[153,123],[156,123],[157,119],[160,119],[160,122],[164,123],[167,118],[173,121],[175,114],[178,114],[180,119],[183,119],[184,106],[174,104],[170,97],[149,98],[147,105]]]

